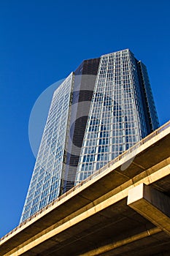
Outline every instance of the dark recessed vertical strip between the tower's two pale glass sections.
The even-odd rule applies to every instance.
[[[82,61],[74,72],[69,141],[66,148],[66,168],[63,171],[61,193],[74,186],[99,60],[98,58]]]

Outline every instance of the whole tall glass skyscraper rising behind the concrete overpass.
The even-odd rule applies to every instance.
[[[82,61],[53,94],[20,222],[158,125],[147,69],[130,50]]]

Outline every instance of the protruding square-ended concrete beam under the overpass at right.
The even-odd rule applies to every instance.
[[[142,183],[128,191],[127,204],[170,236],[170,197]]]

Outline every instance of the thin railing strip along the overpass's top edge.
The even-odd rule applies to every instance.
[[[163,130],[168,129],[170,127],[170,121],[168,121],[166,124],[163,124],[163,126],[159,127],[158,129],[156,129],[154,132],[150,133],[150,135],[147,135],[147,137],[143,138],[142,140],[140,140],[138,143],[136,143],[134,146],[132,146],[131,148],[129,148],[127,151],[123,152],[123,154],[120,154],[120,156],[116,157],[115,159],[113,159],[112,161],[110,161],[107,165],[104,165],[104,167],[101,167],[99,170],[96,170],[95,173],[93,173],[92,175],[90,175],[88,178],[86,178],[85,180],[81,181],[80,184],[77,184],[76,186],[72,187],[72,189],[70,189],[68,192],[64,193],[63,195],[61,195],[60,197],[58,197],[57,199],[55,199],[52,203],[50,203],[49,205],[47,205],[45,208],[42,208],[40,211],[37,211],[36,214],[32,215],[31,217],[29,217],[28,219],[26,219],[24,222],[20,223],[20,225],[18,225],[18,227],[15,227],[13,230],[11,230],[9,233],[7,233],[7,235],[3,236],[0,241],[4,240],[4,238],[7,238],[9,235],[11,235],[12,233],[14,233],[15,231],[17,231],[18,229],[20,229],[20,227],[22,227],[23,225],[26,225],[26,223],[30,222],[31,219],[34,219],[36,216],[38,216],[39,214],[41,214],[43,211],[47,210],[47,208],[50,208],[51,206],[53,206],[55,203],[58,203],[58,201],[60,201],[61,199],[63,199],[64,197],[66,197],[67,195],[69,195],[70,193],[72,193],[73,191],[75,191],[76,189],[78,189],[79,187],[82,187],[83,184],[85,184],[86,182],[90,181],[92,178],[98,176],[99,173],[103,173],[104,170],[107,170],[108,167],[111,167],[112,165],[114,165],[116,162],[120,161],[120,159],[123,159],[125,156],[127,156],[128,154],[130,154],[131,152],[134,152],[136,150],[136,148],[139,148],[139,146],[142,146],[144,143],[147,143],[148,140],[151,140],[152,138],[154,138],[156,135],[159,135],[161,132],[163,132]]]

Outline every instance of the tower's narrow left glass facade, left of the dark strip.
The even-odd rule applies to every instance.
[[[60,193],[73,73],[55,90],[20,222]]]

